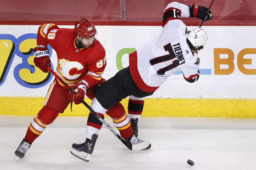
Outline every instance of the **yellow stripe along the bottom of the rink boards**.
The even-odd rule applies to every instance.
[[[0,115],[36,116],[45,97],[0,97]],[[121,103],[127,113],[128,98]],[[166,99],[146,98],[142,116],[256,118],[256,99]],[[91,100],[85,98],[90,105]],[[59,116],[88,116],[83,105],[70,105]]]

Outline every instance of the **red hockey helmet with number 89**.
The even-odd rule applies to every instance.
[[[97,34],[95,26],[86,18],[75,23],[75,32],[81,38],[91,38]]]

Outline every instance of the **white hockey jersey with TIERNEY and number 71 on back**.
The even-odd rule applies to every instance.
[[[189,17],[188,6],[178,2],[167,5],[161,35],[129,54],[130,73],[141,90],[157,90],[179,70],[188,82],[198,80],[199,56],[191,52],[186,42],[186,25],[180,20],[181,17]]]

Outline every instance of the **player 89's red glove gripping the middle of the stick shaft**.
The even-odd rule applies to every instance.
[[[69,99],[74,101],[75,104],[80,104],[80,99],[85,99],[86,94],[86,84],[85,83],[75,83],[73,86],[75,92],[69,92]]]

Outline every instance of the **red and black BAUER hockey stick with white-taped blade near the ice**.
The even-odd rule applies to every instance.
[[[58,80],[60,80],[66,87],[69,88],[69,90],[71,92],[76,93],[67,83],[65,83],[62,78],[60,78],[47,64],[47,69],[54,75],[54,77],[56,77]],[[143,143],[139,143],[139,144],[131,144],[126,142],[120,135],[118,135],[118,133],[111,128],[111,126],[109,124],[107,124],[107,122],[105,120],[103,120],[97,112],[95,112],[83,99],[80,99],[80,101],[94,114],[94,116],[96,116],[99,121],[101,121],[121,142],[123,142],[123,144],[130,150],[142,150],[147,148],[150,145],[149,141],[145,141]]]

